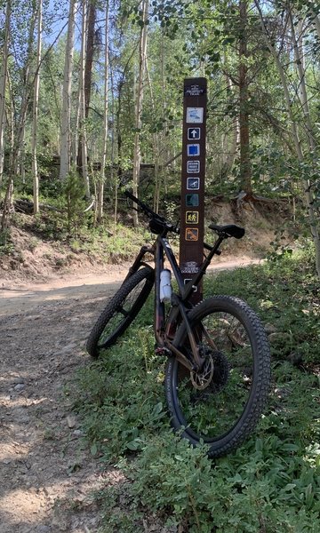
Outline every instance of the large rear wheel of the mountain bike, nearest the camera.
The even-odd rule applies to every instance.
[[[193,445],[207,444],[210,457],[220,457],[252,433],[265,407],[268,339],[258,316],[239,298],[208,298],[188,320],[204,364],[196,372],[169,359],[165,391],[172,426]],[[181,338],[180,351],[190,357],[187,332]]]

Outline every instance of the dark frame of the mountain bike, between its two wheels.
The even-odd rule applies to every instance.
[[[157,350],[161,354],[175,354],[179,361],[185,367],[187,367],[188,370],[199,370],[204,363],[204,359],[199,354],[195,336],[188,321],[188,311],[192,308],[189,298],[204,277],[205,271],[207,267],[209,267],[213,256],[220,253],[220,244],[226,237],[220,235],[213,246],[204,243],[204,248],[209,250],[209,253],[207,256],[204,256],[204,262],[199,267],[198,272],[193,275],[188,283],[185,284],[181,275],[180,267],[177,263],[177,259],[175,258],[172,247],[166,238],[167,233],[167,231],[164,231],[162,235],[157,235],[156,241],[152,245],[144,245],[141,247],[137,258],[132,264],[132,267],[130,267],[125,279],[137,272],[140,267],[148,266],[148,263],[144,260],[147,254],[151,254],[154,257],[155,337],[158,345]],[[164,268],[165,258],[168,259],[173,277],[178,284],[178,293],[172,292],[172,308],[167,319],[165,319],[164,303],[160,301],[160,274]],[[172,330],[175,330],[177,322],[181,322],[183,327],[178,328],[172,338],[171,332]],[[180,352],[179,349],[179,346],[182,345],[183,339],[186,338],[186,334],[188,335],[189,344],[192,350],[193,361],[190,361],[185,354]]]

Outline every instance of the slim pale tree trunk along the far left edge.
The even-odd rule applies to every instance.
[[[10,39],[10,20],[12,14],[12,3],[8,0],[5,11],[5,27],[4,27],[4,46],[3,46],[3,60],[0,71],[0,187],[4,175],[4,123],[5,123],[5,90],[7,84],[7,67],[8,67],[8,53],[9,53],[9,39]]]

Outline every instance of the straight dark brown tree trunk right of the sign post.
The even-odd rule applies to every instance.
[[[240,189],[252,195],[252,171],[250,161],[249,109],[248,109],[248,47],[247,47],[247,0],[240,0],[239,39],[239,131],[240,131]]]

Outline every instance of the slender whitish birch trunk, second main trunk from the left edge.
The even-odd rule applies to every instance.
[[[34,198],[34,213],[39,211],[39,175],[37,167],[36,156],[36,140],[37,140],[37,123],[39,110],[39,89],[40,89],[40,65],[41,65],[41,48],[42,48],[42,0],[38,0],[37,12],[37,44],[36,44],[36,76],[35,76],[35,90],[34,90],[34,104],[33,104],[33,122],[32,122],[32,139],[31,139],[31,156],[32,156],[32,175],[33,175],[33,198]]]

